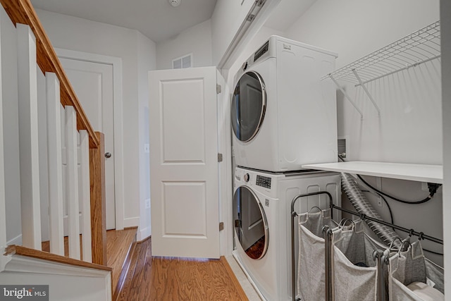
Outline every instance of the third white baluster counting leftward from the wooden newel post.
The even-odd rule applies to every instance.
[[[63,163],[61,159],[61,99],[55,73],[47,80],[47,156],[49,161],[50,252],[64,256]]]

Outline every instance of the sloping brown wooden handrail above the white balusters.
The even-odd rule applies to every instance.
[[[63,66],[61,66],[54,47],[51,45],[50,39],[47,37],[30,0],[0,0],[0,2],[14,25],[22,23],[30,26],[36,37],[37,64],[39,68],[41,68],[43,73],[56,73],[61,87],[61,104],[75,108],[77,112],[77,129],[87,130],[89,134],[89,148],[99,147],[99,139],[95,135],[94,129],[89,123],[89,119],[85,111],[83,111],[72,85],[70,85]]]

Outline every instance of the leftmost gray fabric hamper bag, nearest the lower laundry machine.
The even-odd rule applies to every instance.
[[[299,215],[297,295],[301,300],[323,301],[326,294],[322,230],[324,225],[330,228],[338,226],[330,218],[330,209]]]

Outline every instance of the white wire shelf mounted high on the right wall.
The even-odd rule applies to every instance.
[[[362,85],[438,58],[440,58],[440,21],[421,28],[321,79],[335,78]]]

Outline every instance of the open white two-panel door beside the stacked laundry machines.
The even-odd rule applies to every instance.
[[[216,68],[149,72],[152,255],[219,258]]]

